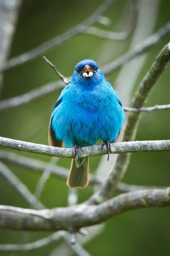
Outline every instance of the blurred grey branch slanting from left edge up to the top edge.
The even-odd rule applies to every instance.
[[[40,54],[44,53],[44,51],[49,50],[53,46],[61,44],[62,42],[70,39],[71,37],[77,35],[80,32],[83,32],[88,26],[95,23],[100,15],[102,15],[113,3],[113,0],[105,0],[103,4],[101,4],[93,14],[90,15],[85,21],[79,23],[75,27],[71,28],[69,31],[63,33],[60,36],[57,36],[47,42],[44,42],[42,45],[37,46],[33,50],[28,51],[27,53],[23,53],[17,57],[10,59],[8,62],[4,63],[4,65],[0,68],[0,71],[8,70],[12,67],[21,65],[25,62],[28,62],[31,59],[38,57]]]

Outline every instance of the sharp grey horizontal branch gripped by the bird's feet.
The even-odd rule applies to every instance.
[[[138,112],[133,112],[138,113]],[[0,137],[0,147],[16,149],[19,151],[26,151],[36,154],[43,154],[46,156],[56,156],[63,158],[75,158],[73,148],[58,148],[47,146],[43,144],[36,144],[24,142],[21,140],[13,140],[9,138]],[[170,140],[145,140],[134,142],[119,142],[110,144],[111,154],[121,154],[129,152],[155,152],[155,151],[170,151]],[[107,154],[108,149],[106,145],[98,144],[88,147],[83,147],[78,150],[79,158],[98,156]]]

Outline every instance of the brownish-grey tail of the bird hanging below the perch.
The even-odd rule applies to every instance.
[[[85,188],[89,184],[89,157],[72,159],[67,186],[70,188]]]

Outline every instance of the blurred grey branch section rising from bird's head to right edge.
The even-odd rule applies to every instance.
[[[109,64],[102,67],[102,71],[105,74],[112,72],[113,70],[122,66],[124,63],[127,63],[129,60],[149,49],[152,45],[155,45],[160,39],[162,39],[162,37],[168,34],[170,34],[170,22],[168,22],[164,27],[160,28],[160,30],[158,30],[154,35],[141,42],[141,44],[138,44],[132,51],[129,51],[118,59],[113,60]]]

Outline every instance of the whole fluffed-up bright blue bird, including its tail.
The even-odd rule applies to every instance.
[[[49,145],[74,147],[67,185],[84,188],[89,184],[89,158],[78,158],[77,149],[102,140],[110,154],[124,121],[124,111],[117,92],[106,81],[98,64],[81,60],[72,80],[62,90],[49,122]]]

